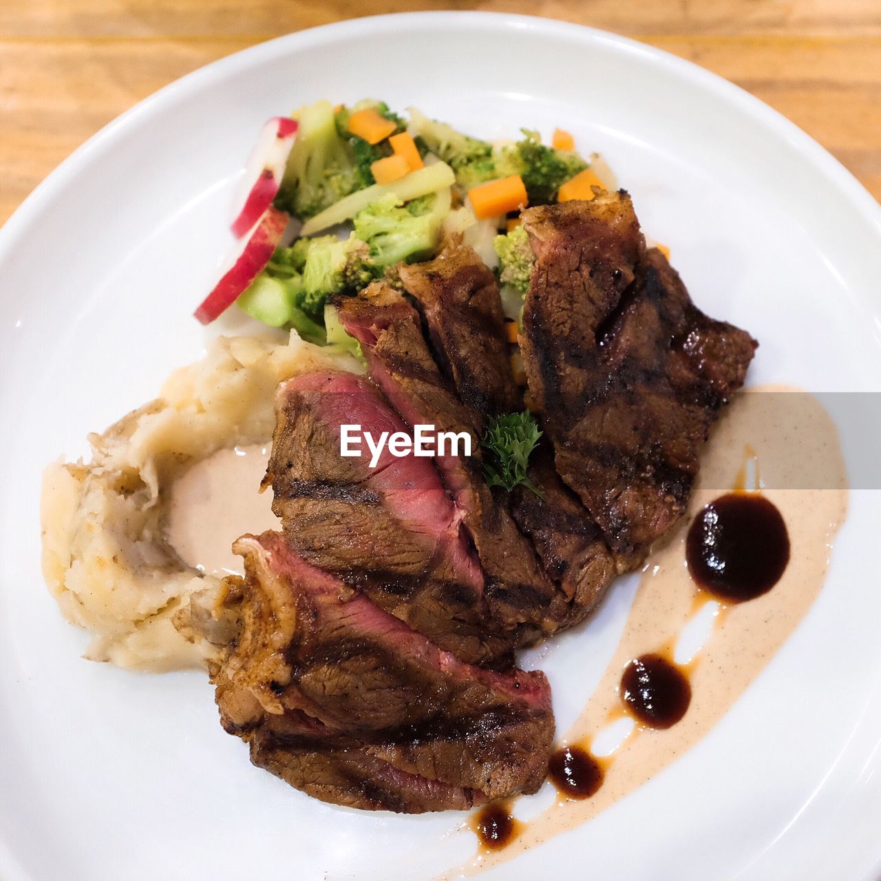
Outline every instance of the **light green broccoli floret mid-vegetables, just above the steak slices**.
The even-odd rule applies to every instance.
[[[427,196],[402,205],[389,193],[355,215],[355,235],[369,245],[376,267],[432,254],[442,219],[433,210],[437,198]]]

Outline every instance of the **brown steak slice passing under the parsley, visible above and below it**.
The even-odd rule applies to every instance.
[[[471,404],[481,428],[482,417],[522,409],[499,286],[473,249],[450,248],[430,263],[401,266],[399,273],[421,303],[439,362],[448,365],[456,394]],[[566,603],[554,603],[556,626],[572,626],[602,598],[615,566],[601,531],[560,480],[545,445],[533,455],[529,479],[541,495],[516,487],[509,508],[566,596]]]

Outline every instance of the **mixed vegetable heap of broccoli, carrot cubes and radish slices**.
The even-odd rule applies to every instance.
[[[240,253],[196,317],[211,322],[237,302],[271,327],[357,352],[333,323],[331,299],[377,278],[394,283],[397,263],[461,236],[497,271],[516,322],[534,259],[520,211],[593,198],[594,186],[603,184],[565,131],[550,146],[526,129],[491,144],[415,108],[404,118],[381,101],[316,101],[263,127],[233,221]]]

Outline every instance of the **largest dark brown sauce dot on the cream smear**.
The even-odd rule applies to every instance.
[[[762,496],[731,492],[694,518],[685,559],[694,581],[720,599],[754,599],[780,581],[789,562],[786,523]]]

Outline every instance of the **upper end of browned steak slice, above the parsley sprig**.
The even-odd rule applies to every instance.
[[[487,415],[522,410],[499,285],[474,249],[447,248],[427,263],[402,264],[398,273],[422,308],[438,364],[462,403],[481,423]]]

